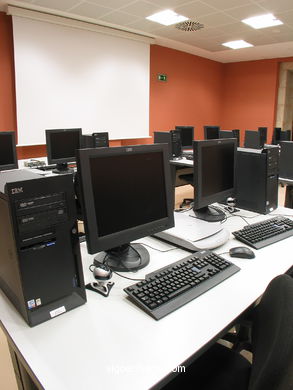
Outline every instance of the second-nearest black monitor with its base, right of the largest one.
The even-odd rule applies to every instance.
[[[195,216],[215,222],[225,218],[224,212],[210,206],[235,195],[235,138],[193,142]]]

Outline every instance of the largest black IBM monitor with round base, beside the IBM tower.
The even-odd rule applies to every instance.
[[[129,243],[174,226],[168,146],[81,149],[77,172],[88,252],[116,271],[146,266],[148,251]]]

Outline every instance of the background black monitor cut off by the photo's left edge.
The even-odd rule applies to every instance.
[[[0,131],[0,171],[17,168],[15,132]]]

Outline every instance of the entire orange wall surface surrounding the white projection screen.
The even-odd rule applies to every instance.
[[[12,21],[0,12],[0,131],[15,130],[16,102]],[[175,125],[192,125],[203,138],[204,125],[222,129],[269,128],[275,123],[279,64],[293,57],[222,64],[153,45],[150,50],[150,135]],[[167,82],[157,74],[167,75]],[[111,146],[152,143],[153,139],[115,140]],[[18,158],[45,155],[44,145],[19,147]]]

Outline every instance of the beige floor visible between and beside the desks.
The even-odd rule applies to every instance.
[[[193,188],[191,186],[177,187],[175,196],[175,208],[184,198],[193,197]],[[284,205],[285,189],[279,187],[279,204]],[[17,384],[14,376],[13,366],[10,360],[7,341],[3,331],[0,329],[0,389],[17,390]]]

